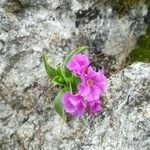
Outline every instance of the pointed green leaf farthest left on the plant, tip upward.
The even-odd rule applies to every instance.
[[[47,55],[43,54],[43,61],[44,61],[44,67],[45,71],[50,79],[53,79],[56,77],[56,71],[55,69],[48,63]]]

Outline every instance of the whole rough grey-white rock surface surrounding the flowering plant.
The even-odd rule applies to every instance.
[[[0,149],[149,149],[149,64],[110,77],[102,115],[67,124],[53,111],[56,89],[41,62],[43,51],[57,65],[89,45],[120,64],[144,32],[146,14],[143,4],[119,18],[109,4],[90,0],[0,1]],[[116,64],[96,63],[105,59]]]

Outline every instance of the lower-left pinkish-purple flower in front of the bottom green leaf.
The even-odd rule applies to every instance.
[[[65,111],[74,116],[82,116],[85,111],[84,99],[80,95],[73,95],[70,92],[65,92],[62,97],[62,104]]]

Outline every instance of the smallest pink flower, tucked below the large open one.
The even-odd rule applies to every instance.
[[[98,113],[102,111],[101,101],[93,100],[88,102],[89,114]]]

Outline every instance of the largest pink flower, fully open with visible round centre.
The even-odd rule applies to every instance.
[[[92,67],[87,69],[87,74],[81,76],[81,83],[78,85],[79,94],[87,101],[99,99],[106,89],[107,82],[103,70],[95,72]]]

